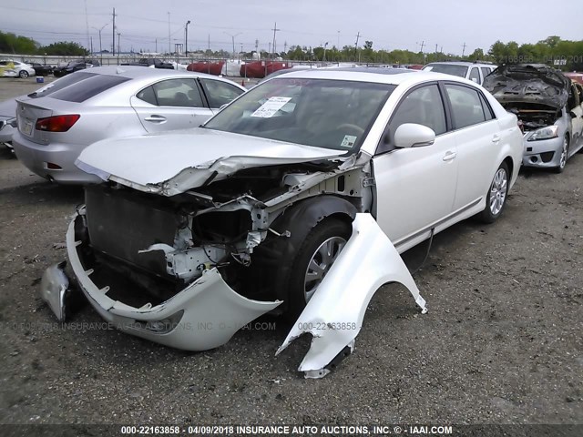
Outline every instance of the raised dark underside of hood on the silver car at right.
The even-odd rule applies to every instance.
[[[524,102],[560,108],[567,104],[569,79],[556,68],[537,64],[500,66],[484,87],[500,103]]]

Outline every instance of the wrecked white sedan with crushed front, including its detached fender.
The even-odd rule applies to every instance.
[[[403,283],[399,253],[476,214],[517,179],[517,117],[470,81],[382,69],[302,71],[254,87],[204,127],[110,139],[77,166],[104,180],[68,229],[79,288],[120,330],[216,348],[286,312],[313,336],[301,371],[353,349],[373,293]],[[43,295],[65,317],[67,279]]]

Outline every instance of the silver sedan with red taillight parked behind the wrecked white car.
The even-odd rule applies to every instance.
[[[62,184],[101,181],[75,166],[81,151],[110,137],[198,127],[245,92],[236,83],[188,71],[102,66],[70,75],[48,96],[16,99],[16,157]]]

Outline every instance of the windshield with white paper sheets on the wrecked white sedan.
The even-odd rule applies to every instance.
[[[360,147],[394,88],[369,82],[278,77],[252,88],[205,127],[348,151]]]

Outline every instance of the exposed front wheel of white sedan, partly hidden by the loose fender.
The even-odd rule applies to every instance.
[[[312,229],[303,241],[293,260],[292,274],[288,282],[288,317],[290,319],[295,320],[300,316],[344,244],[350,239],[351,233],[349,224],[340,219],[330,218],[324,219]],[[326,261],[324,259],[326,253],[331,253],[332,259]],[[321,269],[314,269],[314,266]],[[309,279],[309,276],[313,279]]]

